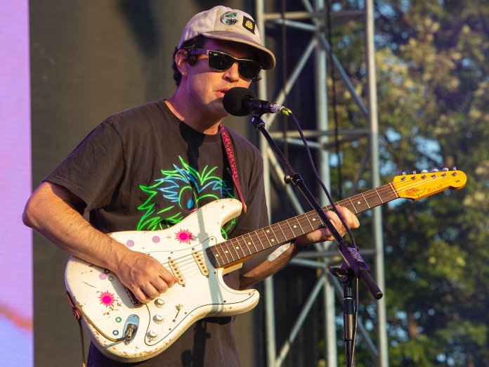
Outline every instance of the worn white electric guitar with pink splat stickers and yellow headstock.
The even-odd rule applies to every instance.
[[[341,200],[360,213],[397,198],[419,200],[465,186],[462,171],[396,176],[392,183]],[[158,259],[178,284],[148,304],[139,303],[115,273],[71,257],[65,271],[68,294],[100,352],[112,359],[143,361],[167,349],[195,321],[207,316],[242,314],[256,306],[256,290],[233,290],[223,274],[248,257],[321,226],[315,212],[224,240],[221,226],[241,212],[241,202],[211,202],[163,231],[123,231],[112,238]],[[325,207],[330,210],[331,207]]]

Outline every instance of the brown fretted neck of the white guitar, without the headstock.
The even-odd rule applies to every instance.
[[[396,188],[392,184],[385,184],[365,191],[365,193],[353,195],[351,198],[340,200],[336,205],[347,207],[351,212],[358,214],[398,197]],[[323,207],[322,210],[325,212],[332,210],[332,206]],[[207,249],[207,255],[214,260],[216,267],[240,263],[244,258],[254,255],[256,252],[290,242],[298,236],[320,228],[320,226],[322,226],[322,222],[318,214],[314,211],[307,212],[211,246]]]

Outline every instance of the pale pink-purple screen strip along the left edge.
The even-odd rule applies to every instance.
[[[33,366],[29,3],[0,0],[0,364]]]

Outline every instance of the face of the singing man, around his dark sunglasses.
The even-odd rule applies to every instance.
[[[254,49],[251,46],[233,42],[207,39],[202,49],[223,51],[235,58],[254,60]],[[235,86],[247,88],[251,80],[244,79],[234,63],[228,70],[217,72],[209,67],[208,56],[198,56],[195,65],[188,65],[188,72],[182,79],[190,105],[200,108],[204,114],[221,119],[228,115],[223,108],[223,96]],[[207,112],[207,113],[206,113]]]

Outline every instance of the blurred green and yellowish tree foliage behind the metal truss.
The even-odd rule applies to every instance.
[[[390,363],[489,366],[489,2],[375,6],[382,181],[455,165],[468,177],[461,191],[384,207]],[[333,39],[360,96],[364,27],[338,25]],[[365,128],[346,87],[337,81],[336,88],[340,128]],[[344,149],[345,178],[355,176],[365,144]],[[369,180],[362,173],[359,189]],[[370,218],[360,220],[357,240],[365,247]]]

